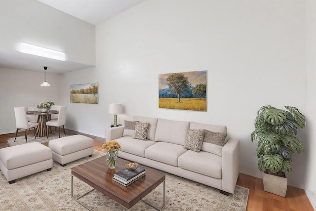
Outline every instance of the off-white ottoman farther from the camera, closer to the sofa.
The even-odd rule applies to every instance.
[[[76,161],[93,154],[93,139],[84,135],[72,135],[53,139],[48,142],[48,147],[53,151],[53,160],[62,167],[67,163]]]

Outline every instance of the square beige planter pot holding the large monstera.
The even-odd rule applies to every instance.
[[[285,197],[287,190],[287,178],[262,173],[262,179],[265,191]]]

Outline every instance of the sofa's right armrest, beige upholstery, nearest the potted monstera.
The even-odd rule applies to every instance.
[[[229,139],[222,148],[222,190],[234,193],[239,174],[239,140]]]

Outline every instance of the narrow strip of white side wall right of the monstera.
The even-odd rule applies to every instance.
[[[316,1],[307,0],[307,124],[308,144],[305,145],[306,189],[313,207],[316,208]]]

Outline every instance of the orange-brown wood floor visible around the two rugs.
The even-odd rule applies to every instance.
[[[68,135],[83,134],[66,129]],[[29,131],[29,134],[34,134]],[[19,132],[18,136],[24,135]],[[94,139],[94,149],[101,150],[104,138],[83,134]],[[7,147],[6,140],[15,137],[15,133],[0,135],[0,148]],[[47,144],[45,144],[47,145]],[[314,211],[303,189],[288,186],[286,197],[277,196],[263,190],[262,179],[239,173],[237,185],[249,189],[247,211]]]

